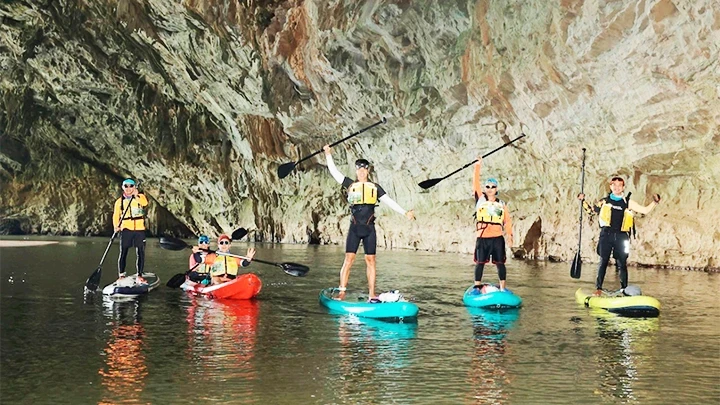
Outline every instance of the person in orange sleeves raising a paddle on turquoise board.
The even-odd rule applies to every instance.
[[[512,221],[507,204],[497,198],[498,181],[489,178],[485,189],[480,187],[482,157],[475,163],[473,172],[473,194],[475,195],[475,288],[482,288],[482,276],[485,264],[492,260],[497,266],[500,279],[500,291],[505,291],[507,269],[505,267],[505,236],[510,246],[513,244]]]

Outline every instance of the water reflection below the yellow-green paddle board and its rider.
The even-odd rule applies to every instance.
[[[642,374],[638,369],[643,356],[654,348],[659,318],[626,318],[602,310],[591,314],[600,342],[596,394],[612,402],[639,402],[634,388]]]

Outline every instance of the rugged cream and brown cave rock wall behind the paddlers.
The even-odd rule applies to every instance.
[[[157,233],[344,243],[322,155],[277,167],[388,117],[334,151],[415,209],[379,209],[382,246],[471,251],[472,169],[417,183],[525,133],[483,168],[518,255],[574,255],[584,147],[589,196],[614,174],[663,196],[631,261],[720,267],[714,0],[18,0],[0,18],[0,217],[31,232],[110,232],[132,176]]]

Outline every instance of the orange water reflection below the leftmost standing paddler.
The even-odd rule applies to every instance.
[[[105,366],[98,371],[105,388],[100,404],[139,404],[148,369],[143,353],[145,329],[139,322],[140,302],[103,300],[110,336],[103,354]]]

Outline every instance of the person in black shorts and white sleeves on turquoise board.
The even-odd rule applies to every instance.
[[[365,265],[368,279],[370,300],[377,299],[375,296],[375,253],[377,248],[377,235],[375,233],[375,204],[378,201],[385,203],[393,211],[405,215],[409,220],[415,219],[413,210],[406,211],[398,203],[393,201],[385,193],[379,184],[368,180],[370,162],[365,159],[355,161],[355,174],[357,180],[344,176],[335,166],[332,158],[330,145],[323,147],[328,169],[333,178],[343,185],[348,191],[347,198],[350,203],[350,229],[345,246],[345,261],[340,270],[339,299],[345,297],[345,290],[350,279],[350,268],[355,261],[357,250],[362,241],[365,250]]]

